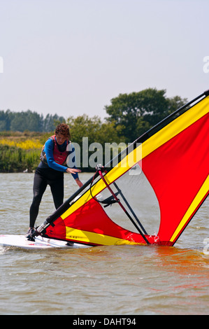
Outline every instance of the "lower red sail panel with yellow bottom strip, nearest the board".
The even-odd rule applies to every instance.
[[[64,220],[59,217],[45,231],[45,237],[90,245],[144,244],[141,235],[114,223],[94,199],[83,204]],[[156,237],[149,237],[150,243]]]

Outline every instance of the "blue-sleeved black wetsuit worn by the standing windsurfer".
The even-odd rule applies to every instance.
[[[64,172],[66,172],[67,167],[64,165],[59,165],[57,162],[55,162],[55,141],[53,141],[53,139],[48,139],[48,141],[46,141],[44,151],[48,163],[41,161],[34,175],[34,198],[30,207],[30,228],[34,228],[36,218],[38,216],[39,205],[41,203],[43,193],[45,192],[45,189],[48,185],[51,188],[55,208],[57,209],[61,206],[61,204],[63,204]],[[65,141],[62,145],[58,145],[56,143],[56,151],[58,148],[60,152],[64,152],[66,150],[66,146],[67,141]],[[71,151],[69,151],[69,154],[71,154],[71,158],[73,159],[72,162],[75,164],[73,153],[75,154],[75,148],[71,144]],[[76,168],[75,165],[73,168]],[[73,179],[77,179],[78,173],[72,174],[72,176]]]

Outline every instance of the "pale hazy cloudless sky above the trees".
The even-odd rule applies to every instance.
[[[208,0],[0,0],[0,110],[103,119],[149,87],[194,99],[209,89],[208,13]]]

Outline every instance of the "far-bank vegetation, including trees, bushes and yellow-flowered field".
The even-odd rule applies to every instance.
[[[44,119],[29,110],[20,113],[0,111],[0,172],[23,172],[25,169],[32,172],[36,169],[41,147],[60,122],[69,125],[73,144],[80,146],[80,168],[92,171],[91,167],[82,166],[85,152],[89,151],[88,156],[95,152],[82,149],[83,137],[88,137],[88,146],[99,143],[103,152],[106,143],[127,144],[134,141],[187,102],[187,99],[178,96],[167,98],[165,94],[166,90],[152,88],[120,94],[105,106],[108,118],[104,122],[98,116],[71,116],[65,120],[48,114]]]

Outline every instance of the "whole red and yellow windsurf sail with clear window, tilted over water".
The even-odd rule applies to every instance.
[[[205,92],[134,141],[113,167],[98,167],[38,232],[91,246],[173,246],[208,196],[208,133]]]

